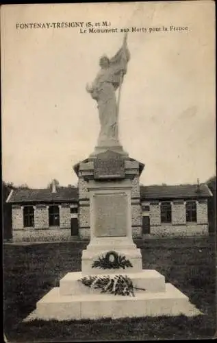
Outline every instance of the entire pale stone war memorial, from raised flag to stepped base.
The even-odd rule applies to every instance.
[[[127,36],[86,91],[97,102],[101,130],[94,152],[76,165],[90,199],[90,242],[81,271],[68,272],[36,304],[26,320],[73,320],[142,316],[196,316],[188,297],[156,270],[142,269],[132,239],[131,191],[144,164],[130,158],[118,139],[121,85],[130,60]]]

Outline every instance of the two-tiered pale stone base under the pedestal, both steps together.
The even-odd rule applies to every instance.
[[[119,272],[117,273],[119,274]],[[126,275],[131,277],[138,290],[135,297],[101,294],[98,289],[83,285],[81,272],[68,273],[36,305],[25,322],[31,320],[81,320],[101,318],[135,318],[146,316],[198,316],[196,309],[179,289],[165,283],[164,276],[155,270],[142,270]],[[103,274],[105,275],[105,274]]]

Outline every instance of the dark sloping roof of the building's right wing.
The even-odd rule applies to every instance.
[[[209,198],[212,196],[206,184],[197,185],[153,185],[140,186],[141,200]]]

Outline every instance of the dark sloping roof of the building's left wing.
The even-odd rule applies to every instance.
[[[51,189],[14,189],[7,202],[71,202],[77,198],[76,187],[57,187],[55,193]]]

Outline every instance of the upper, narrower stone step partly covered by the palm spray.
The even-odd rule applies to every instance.
[[[114,277],[117,274],[129,276],[135,287],[144,288],[146,289],[146,292],[165,292],[165,278],[162,274],[159,274],[157,270],[142,270],[142,272],[136,273],[119,272],[116,270],[116,274],[107,274],[106,272],[104,273],[101,271],[101,274],[97,274],[97,276],[109,275],[110,277]],[[92,289],[79,282],[79,279],[84,276],[88,275],[82,272],[70,272],[66,274],[60,280],[60,294],[63,296],[100,294],[100,289]],[[91,276],[93,276],[93,274]]]

